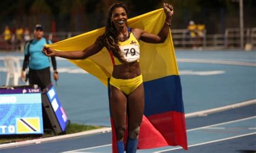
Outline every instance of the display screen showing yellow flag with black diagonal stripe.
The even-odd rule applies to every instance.
[[[0,89],[0,135],[43,134],[40,89]]]

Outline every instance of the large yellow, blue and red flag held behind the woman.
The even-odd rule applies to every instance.
[[[163,9],[158,9],[127,21],[129,27],[138,27],[158,34],[165,21]],[[84,50],[104,33],[105,27],[48,45],[55,50]],[[138,149],[180,145],[187,150],[185,113],[180,77],[171,31],[165,43],[148,44],[140,41],[140,68],[145,90],[145,112],[140,127]],[[113,70],[106,48],[90,58],[70,60],[73,64],[97,77],[104,85]],[[111,112],[110,112],[111,114]],[[112,126],[112,150],[117,152],[116,133]],[[127,128],[126,128],[127,130]],[[127,131],[124,143],[126,143]]]

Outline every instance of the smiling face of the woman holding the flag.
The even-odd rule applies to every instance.
[[[126,26],[127,13],[124,8],[119,7],[113,10],[111,20],[116,28]]]

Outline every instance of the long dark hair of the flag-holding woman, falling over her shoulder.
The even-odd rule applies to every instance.
[[[124,8],[127,13],[126,6],[123,3],[116,3],[110,6],[105,33],[100,36],[100,43],[103,44],[107,48],[107,50],[112,51],[114,57],[116,57],[119,61],[127,64],[127,61],[124,59],[124,56],[122,55],[118,45],[117,29],[111,21],[113,10],[116,8]]]

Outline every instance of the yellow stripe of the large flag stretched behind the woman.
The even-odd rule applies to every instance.
[[[144,15],[131,18],[127,21],[129,27],[138,27],[147,32],[157,34],[165,21],[163,9],[158,9]],[[98,36],[103,34],[105,27],[80,34],[48,45],[60,51],[84,50],[95,42]],[[169,75],[178,75],[178,66],[174,53],[171,32],[163,44],[148,44],[140,41],[140,67],[144,81],[163,78]],[[92,75],[95,75],[104,85],[107,86],[107,78],[111,77],[113,66],[106,48],[83,60],[70,60],[73,64]]]

